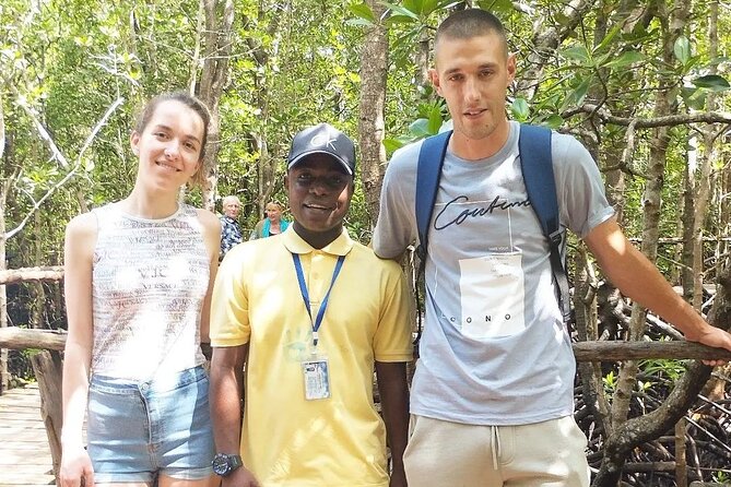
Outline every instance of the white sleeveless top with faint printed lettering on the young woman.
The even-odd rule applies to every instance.
[[[210,262],[196,209],[163,219],[93,211],[92,372],[148,380],[201,365],[200,316]]]

